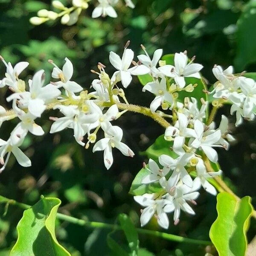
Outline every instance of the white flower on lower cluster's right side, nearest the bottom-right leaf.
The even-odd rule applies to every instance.
[[[217,195],[217,191],[215,187],[212,186],[212,184],[210,184],[207,181],[207,179],[214,176],[221,175],[222,171],[219,170],[218,172],[207,172],[204,165],[204,161],[199,157],[197,157],[197,159],[198,159],[198,163],[196,165],[197,177],[195,179],[200,180],[200,183],[202,184],[205,191],[207,191],[212,195]]]

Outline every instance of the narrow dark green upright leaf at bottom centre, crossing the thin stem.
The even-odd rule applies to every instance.
[[[137,230],[128,215],[122,213],[118,216],[118,219],[131,249],[131,255],[136,256],[139,249],[139,237]]]

